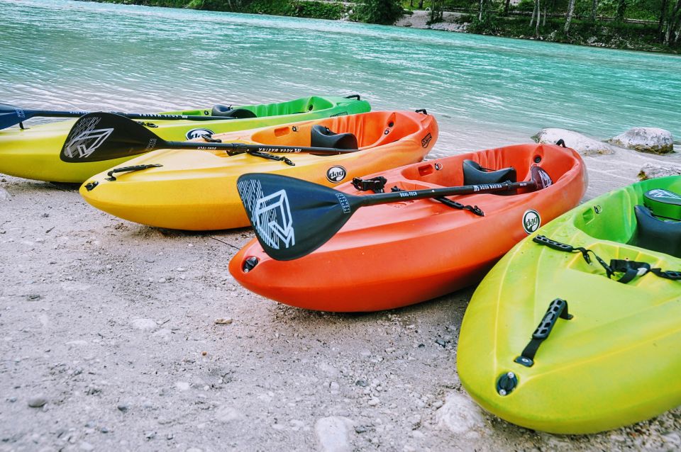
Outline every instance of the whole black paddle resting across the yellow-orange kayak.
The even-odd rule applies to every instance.
[[[309,152],[313,154],[345,154],[358,149],[332,147],[294,147],[246,145],[244,143],[165,141],[154,132],[133,120],[116,113],[87,113],[71,128],[66,137],[60,159],[69,163],[101,162],[144,154],[156,149],[225,149],[229,155],[244,152]],[[259,157],[280,157],[260,154]]]

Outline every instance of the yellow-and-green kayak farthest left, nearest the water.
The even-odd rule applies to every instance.
[[[226,108],[218,107],[220,106],[169,111],[164,114],[223,115]],[[282,103],[234,106],[231,111],[237,109],[250,112],[247,112],[246,116],[251,117],[200,122],[153,120],[146,121],[145,125],[153,128],[153,132],[164,140],[180,141],[206,133],[233,132],[302,120],[365,113],[370,111],[370,106],[367,101],[360,100],[359,96],[350,98],[311,96]],[[26,123],[26,129],[15,126],[0,130],[0,173],[39,181],[83,182],[89,176],[132,158],[77,164],[62,162],[59,153],[74,122],[75,120],[64,120],[41,125]]]

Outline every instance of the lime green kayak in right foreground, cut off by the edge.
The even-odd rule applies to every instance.
[[[680,200],[681,176],[635,183],[511,249],[463,318],[457,364],[473,399],[558,434],[681,405]]]

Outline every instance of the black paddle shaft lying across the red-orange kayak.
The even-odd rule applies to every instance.
[[[535,181],[482,183],[480,185],[464,185],[459,187],[431,188],[428,190],[397,191],[394,193],[377,193],[375,195],[360,196],[360,207],[367,205],[394,203],[401,200],[437,198],[438,196],[470,195],[472,193],[490,193],[495,191],[509,191],[514,188],[536,188]]]

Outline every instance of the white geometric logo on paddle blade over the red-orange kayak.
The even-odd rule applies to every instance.
[[[272,249],[296,244],[286,190],[265,196],[260,181],[239,181],[237,189],[258,238]]]

